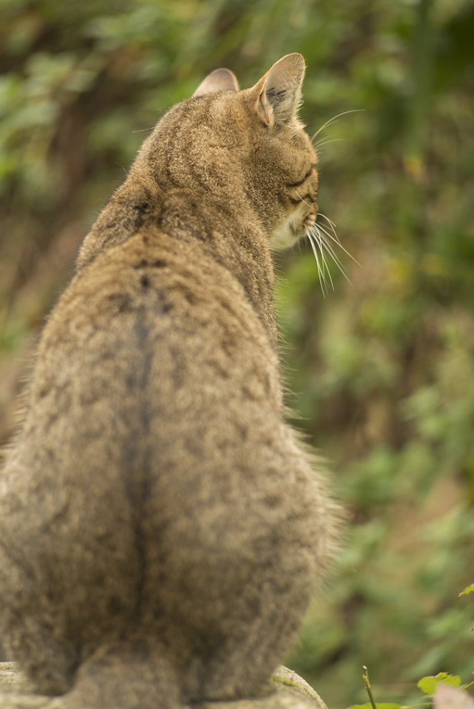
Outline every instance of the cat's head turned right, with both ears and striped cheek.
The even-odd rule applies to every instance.
[[[304,69],[302,55],[287,55],[243,91],[228,69],[211,72],[158,123],[148,164],[165,162],[167,181],[191,180],[202,199],[245,199],[272,247],[292,245],[317,212],[316,153],[297,115]]]

